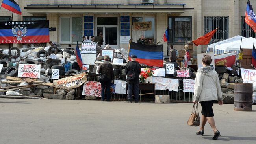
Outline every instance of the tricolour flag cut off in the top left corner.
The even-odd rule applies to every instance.
[[[21,15],[20,6],[14,0],[3,0],[1,7]]]

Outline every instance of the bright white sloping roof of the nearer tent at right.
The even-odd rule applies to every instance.
[[[237,40],[237,41],[233,41],[230,43],[224,43],[221,45],[216,45],[215,49],[218,50],[225,50],[225,51],[230,51],[230,50],[240,50],[240,44],[241,44],[241,40]],[[256,39],[255,38],[245,38],[242,40],[242,45],[241,48],[243,49],[252,49],[253,44],[256,45]]]

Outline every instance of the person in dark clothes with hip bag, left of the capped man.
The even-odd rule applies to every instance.
[[[100,75],[106,75],[106,81],[101,82],[101,101],[111,101],[110,85],[114,82],[114,70],[113,65],[108,62],[109,56],[104,56],[104,62],[99,65],[98,73]]]

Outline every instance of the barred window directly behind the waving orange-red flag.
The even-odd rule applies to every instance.
[[[228,39],[228,16],[205,16],[204,34],[218,28],[209,43]]]

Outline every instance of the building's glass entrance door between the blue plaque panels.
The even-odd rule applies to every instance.
[[[103,49],[107,44],[113,49],[119,49],[118,17],[97,17],[97,33],[103,34]]]

